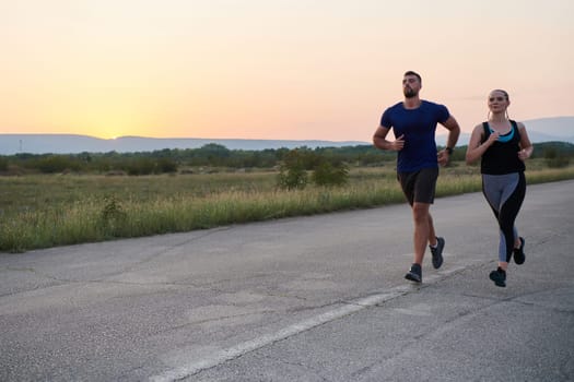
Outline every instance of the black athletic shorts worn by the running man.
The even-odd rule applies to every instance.
[[[411,206],[414,202],[433,204],[437,178],[438,167],[423,168],[414,172],[397,172],[402,193]]]

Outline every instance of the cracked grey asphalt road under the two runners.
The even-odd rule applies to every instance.
[[[409,207],[0,253],[1,381],[572,381],[574,181],[531,186],[526,263],[480,193]]]

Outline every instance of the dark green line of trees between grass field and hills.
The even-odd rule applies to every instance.
[[[441,147],[440,147],[441,148]],[[452,160],[464,160],[466,147],[455,151]],[[26,154],[0,156],[0,174],[126,174],[131,176],[174,174],[184,168],[281,168],[296,164],[300,170],[345,166],[380,166],[395,160],[396,153],[383,152],[372,145],[343,147],[302,146],[260,151],[229,150],[209,143],[199,148],[164,148],[136,153]],[[535,144],[532,157],[543,157],[549,167],[563,167],[574,157],[574,144],[544,142]],[[329,167],[330,166],[330,167]],[[293,167],[293,166],[291,166]]]

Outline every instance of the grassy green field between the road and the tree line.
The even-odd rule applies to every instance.
[[[574,178],[574,167],[531,160],[528,183]],[[145,177],[34,175],[0,178],[0,251],[189,231],[237,223],[403,203],[394,164],[353,168],[347,186],[277,188],[277,172]],[[437,196],[480,191],[477,167],[441,170]]]

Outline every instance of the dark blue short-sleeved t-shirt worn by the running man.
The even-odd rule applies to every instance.
[[[380,126],[393,128],[395,138],[405,134],[405,146],[397,155],[397,171],[438,167],[434,133],[436,124],[444,123],[449,116],[446,106],[427,100],[422,100],[415,109],[406,109],[398,103],[383,112]]]

